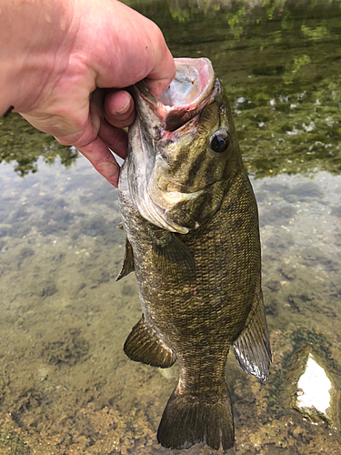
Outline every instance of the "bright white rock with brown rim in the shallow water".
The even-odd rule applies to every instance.
[[[295,387],[291,407],[314,423],[338,424],[338,389],[326,363],[311,346],[297,352],[290,373]]]

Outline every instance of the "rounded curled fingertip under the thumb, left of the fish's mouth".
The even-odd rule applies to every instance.
[[[126,90],[114,90],[105,96],[105,119],[119,128],[134,122],[134,100]]]

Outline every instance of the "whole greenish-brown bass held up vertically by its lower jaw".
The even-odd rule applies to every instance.
[[[179,380],[157,431],[165,448],[235,442],[226,360],[262,383],[271,347],[261,286],[256,198],[224,89],[207,58],[177,58],[159,100],[131,87],[135,122],[118,184],[125,258],[142,317],[128,358]]]

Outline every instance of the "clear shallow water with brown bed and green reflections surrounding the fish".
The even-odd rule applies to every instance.
[[[228,453],[338,454],[338,421],[304,420],[291,396],[306,345],[341,385],[341,3],[129,5],[175,56],[213,61],[259,204],[274,359],[261,387],[230,356]],[[176,366],[161,372],[122,350],[141,310],[135,278],[115,283],[116,190],[17,116],[0,123],[0,453],[182,453],[155,439]]]

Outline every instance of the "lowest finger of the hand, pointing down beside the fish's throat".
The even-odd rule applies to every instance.
[[[106,180],[114,187],[118,186],[120,167],[118,166],[113,154],[110,152],[108,147],[105,146],[101,137],[97,136],[86,146],[76,148],[90,161],[101,176],[105,177]]]

